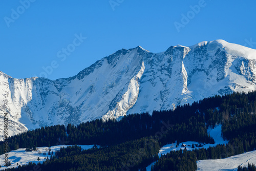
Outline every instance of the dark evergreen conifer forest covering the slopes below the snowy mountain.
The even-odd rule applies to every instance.
[[[196,170],[197,160],[220,159],[255,150],[256,91],[232,93],[177,106],[169,111],[124,116],[121,120],[94,120],[79,125],[41,127],[10,137],[9,151],[58,144],[95,144],[93,149],[79,146],[61,148],[43,164],[8,170]],[[228,144],[173,151],[158,157],[159,148],[168,143],[197,141],[214,143],[207,128],[222,124]],[[0,142],[0,154],[4,144]],[[99,145],[100,147],[97,147]],[[239,168],[247,169],[247,168]]]

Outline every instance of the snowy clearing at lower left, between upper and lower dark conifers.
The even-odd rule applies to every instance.
[[[60,147],[67,147],[67,146],[71,146],[71,145],[56,145],[56,146],[51,146],[50,148],[53,154],[55,154],[55,152],[59,150]],[[81,146],[82,149],[89,149],[89,148],[92,148],[94,145],[78,145],[78,146]],[[49,148],[46,146],[38,147],[38,151],[33,151],[33,152],[26,152],[25,149],[26,148],[19,148],[19,149],[16,149],[15,151],[11,151],[7,153],[8,161],[11,162],[11,166],[8,166],[8,168],[17,167],[18,165],[25,165],[25,164],[28,164],[29,162],[42,163],[46,160],[45,157],[47,158],[47,156],[50,159],[51,155],[48,155]],[[41,152],[41,154],[38,153],[39,151]],[[43,153],[46,153],[46,155],[43,155]],[[0,155],[0,158],[1,158],[0,165],[2,166],[0,170],[7,168],[6,166],[4,166],[5,165],[4,157],[5,157],[5,154]],[[37,160],[38,157],[40,158],[39,161]]]

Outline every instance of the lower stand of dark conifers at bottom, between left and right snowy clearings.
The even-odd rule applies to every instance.
[[[159,149],[158,142],[149,138],[83,151],[74,145],[61,148],[42,164],[29,163],[5,170],[138,170],[156,161]]]

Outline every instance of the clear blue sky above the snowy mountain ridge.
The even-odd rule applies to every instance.
[[[163,52],[224,39],[256,49],[255,7],[256,1],[2,0],[0,71],[14,78],[70,77],[139,45]]]

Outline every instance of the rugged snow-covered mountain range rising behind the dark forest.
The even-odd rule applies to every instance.
[[[0,124],[9,135],[174,109],[213,95],[256,90],[256,50],[224,40],[151,53],[122,49],[70,78],[15,79],[0,71]],[[3,135],[3,127],[0,127]],[[3,140],[3,137],[1,137]]]

